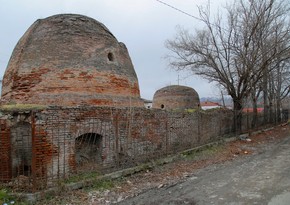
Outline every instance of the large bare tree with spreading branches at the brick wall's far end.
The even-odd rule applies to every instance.
[[[232,97],[238,131],[243,99],[262,79],[268,79],[270,65],[278,56],[281,60],[289,57],[287,7],[282,0],[240,0],[226,8],[226,19],[218,16],[213,22],[209,7],[199,8],[205,28],[194,34],[180,29],[174,40],[166,42],[174,69],[216,82]],[[268,86],[267,80],[262,82]]]

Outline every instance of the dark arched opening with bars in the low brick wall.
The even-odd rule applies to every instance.
[[[75,159],[77,166],[102,163],[103,136],[86,133],[75,139]]]

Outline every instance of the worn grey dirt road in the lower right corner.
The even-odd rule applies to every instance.
[[[151,188],[119,204],[289,205],[290,133],[256,146],[245,144],[243,149],[253,153],[194,170],[185,179]]]

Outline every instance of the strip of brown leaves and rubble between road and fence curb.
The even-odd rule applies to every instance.
[[[260,146],[267,146],[289,136],[289,131],[289,125],[278,126],[250,135],[245,140],[216,145],[192,156],[119,179],[110,190],[95,190],[93,187],[75,190],[49,200],[42,200],[39,204],[116,204],[152,188],[173,186],[181,180],[196,179],[194,173],[197,170],[257,153]]]

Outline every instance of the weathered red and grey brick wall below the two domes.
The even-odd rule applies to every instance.
[[[225,126],[231,122],[230,113],[166,112],[141,108],[53,108],[32,112],[30,116],[19,117],[22,115],[11,113],[10,120],[7,122],[13,127],[20,126],[16,129],[19,131],[13,132],[15,139],[22,139],[17,135],[22,136],[21,133],[27,132],[27,128],[23,127],[25,123],[29,121],[31,124],[31,135],[25,136],[32,138],[32,162],[27,164],[23,161],[26,158],[17,155],[17,153],[29,151],[26,148],[29,139],[26,141],[23,139],[21,144],[25,146],[24,148],[20,146],[21,144],[13,148],[16,153],[13,155],[14,169],[31,166],[31,173],[26,175],[36,179],[45,179],[43,183],[64,178],[75,172],[97,168],[128,167],[214,141],[219,135],[224,134]],[[19,121],[20,119],[25,122]],[[201,124],[205,121],[209,126],[203,128],[205,125]],[[228,124],[216,124],[218,121],[227,121]],[[76,138],[88,133],[100,136],[98,148],[101,150],[101,158],[98,159],[101,161],[93,163],[94,156],[88,155],[85,156],[85,161],[90,164],[80,167],[76,163],[76,154],[78,154],[75,147]],[[7,135],[4,133],[1,137],[7,138]],[[88,149],[91,148],[88,147]],[[9,150],[2,150],[2,152],[7,154]],[[7,171],[8,168],[6,167],[5,170]],[[37,185],[37,187],[44,186]]]

